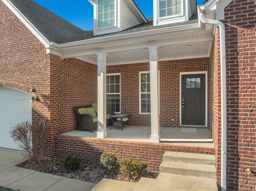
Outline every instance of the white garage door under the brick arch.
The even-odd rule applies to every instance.
[[[28,93],[0,87],[0,147],[19,149],[10,137],[14,124],[32,118],[31,98]]]

